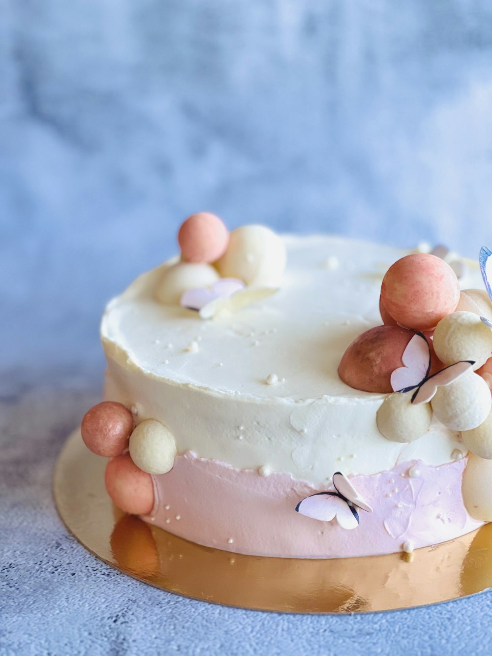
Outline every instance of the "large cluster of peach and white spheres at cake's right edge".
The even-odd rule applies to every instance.
[[[427,432],[434,414],[462,432],[465,445],[476,455],[492,459],[492,331],[481,319],[492,319],[492,306],[485,290],[461,292],[449,264],[415,253],[386,272],[380,313],[384,325],[359,335],[338,367],[340,378],[351,387],[390,394],[378,412],[380,432],[388,440],[413,441]],[[459,379],[438,387],[429,403],[413,404],[409,392],[394,392],[391,377],[403,367],[403,352],[417,332],[428,341],[428,375],[459,361],[473,365]]]

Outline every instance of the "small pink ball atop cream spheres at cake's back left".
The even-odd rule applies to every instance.
[[[178,243],[186,262],[210,264],[226,252],[229,232],[215,214],[198,212],[188,216],[180,227]]]

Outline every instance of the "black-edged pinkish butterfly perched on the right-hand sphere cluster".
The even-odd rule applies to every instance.
[[[475,364],[474,360],[461,360],[430,376],[430,348],[422,333],[416,333],[411,338],[403,351],[401,361],[403,367],[392,373],[391,386],[394,392],[415,390],[411,401],[415,404],[427,403],[434,397],[438,387],[451,384]]]

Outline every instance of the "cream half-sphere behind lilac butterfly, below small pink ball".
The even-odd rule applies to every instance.
[[[155,297],[165,305],[179,305],[187,289],[209,287],[220,279],[211,264],[177,262],[167,267],[155,287]]]

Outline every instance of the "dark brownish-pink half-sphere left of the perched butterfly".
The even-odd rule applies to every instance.
[[[338,375],[356,390],[392,392],[392,372],[403,366],[401,356],[415,335],[400,326],[371,328],[350,344],[338,366]]]

